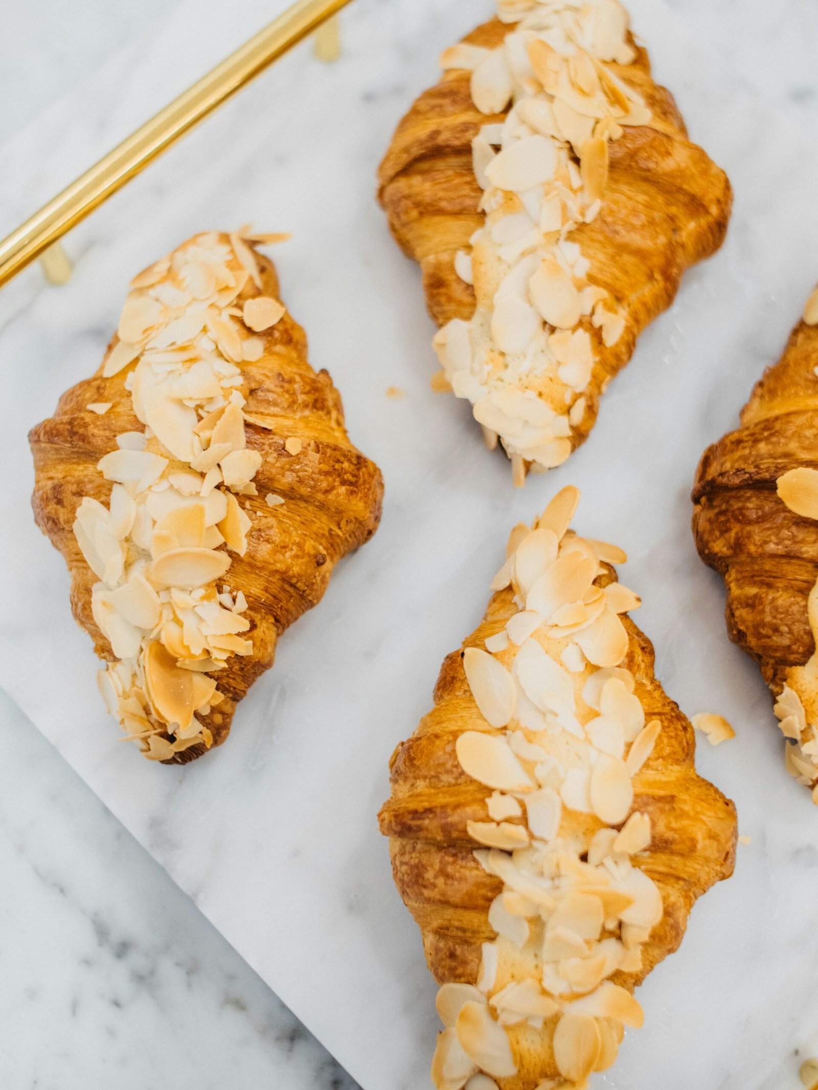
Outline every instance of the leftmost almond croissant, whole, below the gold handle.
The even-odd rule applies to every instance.
[[[29,435],[109,711],[145,756],[225,741],[278,637],[381,516],[377,467],[256,243],[197,234],[131,281],[93,378]]]

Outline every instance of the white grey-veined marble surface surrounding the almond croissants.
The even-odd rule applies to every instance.
[[[262,4],[245,3],[239,19],[219,25],[214,9],[210,34],[194,25],[202,45],[175,49],[175,41],[190,41],[190,34],[179,37],[175,14],[203,7],[175,9],[159,38],[130,50],[130,64],[109,63],[7,145],[3,227],[159,105],[167,83],[181,86],[195,75],[208,49],[215,59],[230,35],[240,40],[264,17]],[[679,48],[684,39],[655,0],[631,7],[694,135],[736,182],[736,219],[724,252],[688,277],[672,314],[646,336],[608,395],[590,443],[522,496],[506,489],[506,468],[486,460],[459,407],[428,392],[429,326],[417,276],[390,249],[369,199],[395,118],[433,77],[437,48],[474,17],[462,5],[360,0],[347,20],[350,52],[337,69],[318,70],[302,55],[265,76],[74,232],[70,247],[80,263],[70,288],[43,289],[33,269],[0,298],[2,399],[13,408],[8,444],[17,485],[3,570],[11,583],[14,572],[31,578],[36,570],[38,583],[25,619],[12,586],[17,611],[0,625],[0,680],[366,1090],[425,1085],[433,1036],[419,942],[373,827],[385,760],[428,704],[443,653],[478,616],[507,525],[530,517],[568,480],[585,493],[580,525],[631,554],[627,579],[645,595],[640,622],[657,644],[669,691],[688,712],[721,711],[736,724],[739,740],[705,749],[699,766],[736,798],[742,831],[754,837],[735,879],[697,908],[683,952],[642,990],[648,1024],[606,1085],[781,1090],[797,1085],[794,1051],[818,1045],[810,910],[818,815],[780,767],[766,694],[726,643],[718,583],[696,560],[687,531],[696,457],[777,353],[815,276],[818,225],[804,209],[814,204],[816,152],[765,112],[762,96],[777,107],[789,102],[793,117],[815,117],[806,92],[816,90],[808,44],[818,41],[818,29],[807,0],[787,4],[792,17],[778,21],[757,0],[679,0],[678,13],[689,9],[690,25],[708,43],[690,50]],[[378,52],[378,43],[387,48]],[[737,77],[719,50],[737,61]],[[772,62],[761,65],[766,56]],[[125,81],[122,71],[131,72]],[[168,75],[167,83],[140,83],[149,71]],[[289,101],[296,75],[302,99],[282,117],[275,96]],[[759,118],[760,131],[774,134],[763,144]],[[344,140],[330,143],[339,130]],[[214,147],[230,155],[214,161]],[[45,159],[59,168],[44,171]],[[286,298],[311,334],[314,362],[330,367],[342,389],[353,438],[384,467],[388,502],[372,545],[347,561],[321,609],[288,634],[229,746],[185,772],[157,770],[134,764],[96,706],[93,661],[68,619],[61,561],[32,532],[25,510],[24,432],[95,366],[133,268],[205,220],[245,218],[270,229],[286,220],[297,230],[279,256]],[[37,384],[21,383],[24,373],[36,374]],[[404,386],[409,397],[386,402],[388,385]],[[51,683],[61,670],[69,701]],[[13,898],[3,909],[15,918],[3,962],[16,971],[3,974],[0,995],[19,1026],[0,1046],[9,1085],[72,1090],[112,1071],[118,1087],[149,1087],[169,1075],[173,1086],[218,1085],[220,1071],[218,1064],[241,1054],[248,1066],[228,1068],[231,1087],[285,1077],[293,1090],[315,1086],[322,1059],[314,1046],[305,1041],[298,1069],[293,1061],[281,1068],[281,1052],[264,1043],[293,1024],[257,978],[130,837],[117,838],[116,823],[73,773],[53,758],[43,763],[48,748],[26,722],[8,708],[2,714],[3,737],[12,740],[4,747],[3,848],[7,872],[15,875],[4,883]],[[25,795],[12,789],[21,783]],[[327,797],[336,801],[322,804]],[[58,898],[47,882],[26,883],[25,874],[37,872],[55,875],[71,896]],[[134,947],[118,959],[131,936]],[[86,966],[92,943],[96,964]],[[203,950],[206,970],[191,983],[185,954]],[[141,976],[158,980],[153,993],[136,986]],[[120,997],[118,989],[132,1003],[106,1004]],[[229,1003],[229,1017],[219,1015],[228,992],[246,1003],[246,1016],[231,1021]],[[77,993],[92,994],[80,1031],[69,1020],[68,997]],[[159,1008],[154,1021],[152,1004]],[[43,1022],[53,1027],[48,1061]],[[169,1024],[187,1032],[168,1034]],[[266,1038],[253,1032],[257,1025],[273,1027]],[[100,1029],[108,1026],[110,1034]],[[192,1044],[182,1049],[180,1040]],[[322,1077],[329,1083],[335,1076],[324,1068]]]

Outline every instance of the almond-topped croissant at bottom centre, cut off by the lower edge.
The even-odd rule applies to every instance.
[[[437,1090],[586,1087],[634,988],[733,870],[733,803],[626,616],[621,549],[568,529],[564,488],[512,532],[478,629],[393,754],[395,882],[441,990]]]

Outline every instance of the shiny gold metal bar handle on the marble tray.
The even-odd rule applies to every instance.
[[[350,0],[298,0],[0,242],[4,284],[253,76]]]

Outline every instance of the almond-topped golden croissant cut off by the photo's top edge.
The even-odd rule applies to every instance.
[[[472,402],[519,485],[585,441],[638,335],[721,245],[732,192],[617,0],[498,0],[441,63],[380,197],[442,327],[434,385]]]

